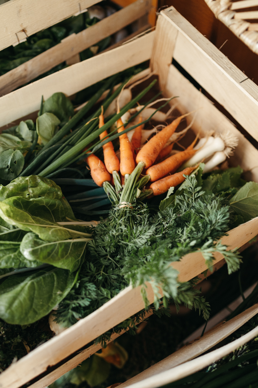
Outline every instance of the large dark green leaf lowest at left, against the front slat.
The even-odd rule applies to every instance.
[[[78,272],[61,268],[9,276],[0,284],[0,317],[19,325],[37,321],[69,293],[77,277]]]

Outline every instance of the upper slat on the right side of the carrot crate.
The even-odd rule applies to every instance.
[[[258,86],[173,7],[161,14],[179,30],[174,59],[258,140]]]

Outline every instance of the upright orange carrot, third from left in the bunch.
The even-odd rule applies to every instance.
[[[120,128],[119,128],[120,127]],[[121,119],[117,120],[118,133],[124,130]],[[120,141],[120,173],[121,175],[132,174],[135,169],[134,155],[130,140],[126,133],[119,136]]]

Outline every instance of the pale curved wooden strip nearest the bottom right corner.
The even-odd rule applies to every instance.
[[[127,386],[130,388],[157,388],[170,382],[177,381],[183,377],[191,375],[192,373],[196,373],[220,358],[227,356],[229,353],[252,340],[257,334],[258,326],[237,340],[216,349],[213,352]],[[123,384],[120,386],[122,387]]]

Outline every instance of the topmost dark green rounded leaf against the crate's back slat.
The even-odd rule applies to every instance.
[[[57,92],[52,94],[43,104],[43,113],[54,114],[64,125],[74,116],[74,106],[65,94]]]

